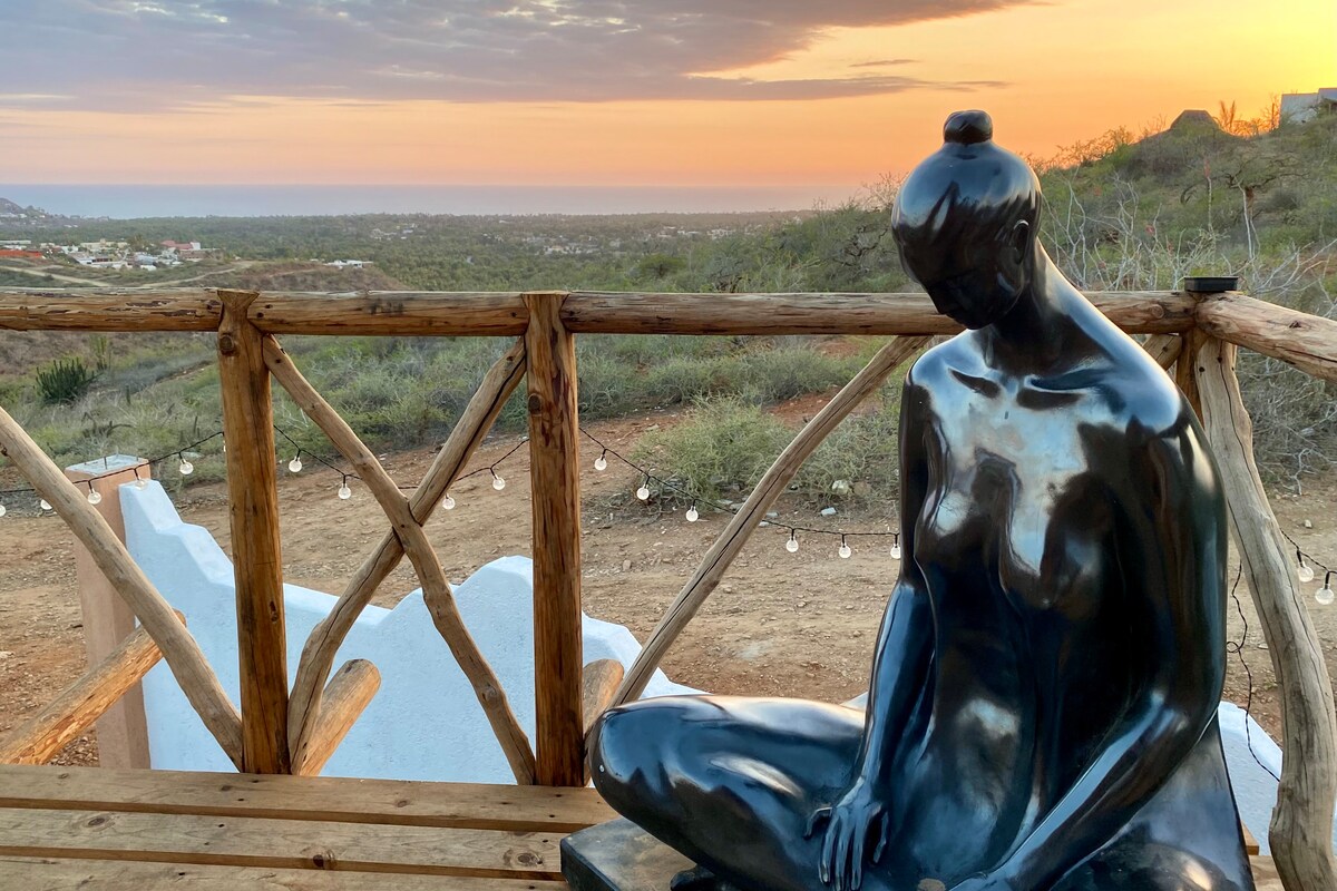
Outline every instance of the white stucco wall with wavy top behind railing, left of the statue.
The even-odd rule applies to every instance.
[[[238,701],[233,565],[203,528],[185,524],[156,482],[120,488],[126,544],[190,632],[233,701]],[[533,739],[533,609],[528,557],[503,557],[455,590],[479,649],[491,663],[521,727]],[[302,644],[334,597],[285,585],[289,683]],[[586,661],[631,665],[640,645],[622,625],[584,617]],[[394,609],[368,606],[334,667],[366,659],[381,689],[325,767],[326,776],[509,783],[512,773],[473,688],[432,624],[421,590]],[[697,692],[655,672],[646,696]],[[231,771],[166,663],[144,679],[148,749],[162,769]]]

